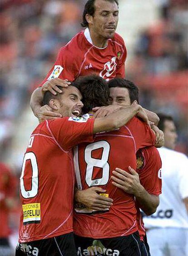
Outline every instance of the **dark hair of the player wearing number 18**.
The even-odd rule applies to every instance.
[[[73,85],[81,92],[84,114],[94,107],[109,105],[109,86],[102,77],[98,75],[80,76],[73,82]]]

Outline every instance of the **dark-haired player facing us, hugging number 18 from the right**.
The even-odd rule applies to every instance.
[[[133,82],[125,79],[113,79],[109,81],[111,105],[131,105],[139,103],[139,89]],[[159,194],[161,194],[161,159],[158,150],[154,147],[146,147],[137,152],[137,169],[132,169],[132,176],[120,169],[113,172],[112,179],[114,186],[123,189],[127,193],[134,195],[145,194],[144,201],[136,201],[137,224],[141,240],[142,256],[149,256],[149,246],[143,226],[143,219],[139,208],[147,215],[154,213],[159,204]],[[130,185],[127,181],[132,181]],[[137,196],[138,198],[138,196]]]

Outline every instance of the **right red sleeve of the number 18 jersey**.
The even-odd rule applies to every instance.
[[[134,137],[136,151],[143,147],[155,145],[155,135],[151,128],[139,118],[134,117],[129,123],[128,127]]]

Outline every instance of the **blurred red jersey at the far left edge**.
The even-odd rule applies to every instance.
[[[16,191],[16,179],[10,169],[0,163],[0,238],[10,235],[9,212],[6,199],[14,198]]]

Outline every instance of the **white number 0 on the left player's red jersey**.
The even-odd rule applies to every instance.
[[[26,161],[30,161],[32,168],[32,178],[31,178],[31,190],[26,191],[24,186],[24,172]],[[22,165],[21,177],[20,177],[20,191],[24,198],[35,197],[38,193],[39,188],[39,169],[37,165],[37,159],[33,152],[28,152],[24,156],[24,161]]]

